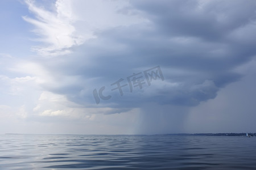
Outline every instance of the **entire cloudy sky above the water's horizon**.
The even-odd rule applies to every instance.
[[[256,132],[256,1],[0,1],[0,134]]]

